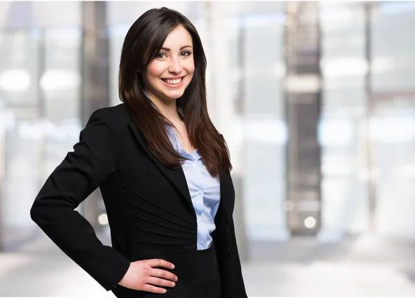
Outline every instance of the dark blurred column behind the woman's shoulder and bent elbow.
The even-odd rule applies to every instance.
[[[107,39],[107,3],[82,2],[82,88],[81,118],[86,125],[92,112],[109,106],[109,40]],[[98,215],[102,196],[95,190],[82,203],[82,214],[93,228],[101,230]]]

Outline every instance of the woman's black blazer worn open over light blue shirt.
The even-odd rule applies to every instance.
[[[80,141],[48,177],[30,210],[50,239],[106,290],[130,262],[196,250],[196,215],[185,175],[149,152],[124,103],[91,115]],[[223,297],[247,297],[235,239],[234,187],[221,172],[221,203],[212,233]],[[111,229],[104,246],[89,221],[74,210],[100,187]]]

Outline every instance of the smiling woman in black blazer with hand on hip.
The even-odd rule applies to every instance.
[[[118,106],[96,110],[30,215],[116,297],[247,297],[223,136],[208,115],[205,54],[190,21],[143,14],[122,47]],[[74,209],[100,187],[112,247]]]

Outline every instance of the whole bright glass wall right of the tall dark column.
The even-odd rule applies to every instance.
[[[322,233],[415,235],[414,2],[322,3]]]

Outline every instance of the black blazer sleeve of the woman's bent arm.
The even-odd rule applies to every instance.
[[[73,152],[48,177],[30,209],[30,217],[46,235],[106,290],[118,284],[131,262],[104,246],[75,208],[115,170],[118,138],[113,113],[95,110]]]

